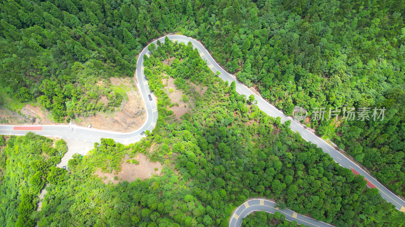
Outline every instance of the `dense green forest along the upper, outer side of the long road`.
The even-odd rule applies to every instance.
[[[403,195],[404,10],[401,1],[7,0],[0,104],[37,101],[59,122],[110,109],[122,94],[95,80],[132,75],[148,40],[180,31],[287,115],[294,105],[389,108],[381,122],[306,124]]]

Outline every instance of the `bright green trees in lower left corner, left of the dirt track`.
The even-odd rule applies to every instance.
[[[67,151],[66,142],[54,142],[33,133],[8,139],[0,155],[0,225],[34,225],[39,192],[55,172],[58,177],[66,172],[55,168]]]

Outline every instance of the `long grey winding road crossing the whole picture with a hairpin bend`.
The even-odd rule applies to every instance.
[[[352,169],[353,172],[361,174],[364,176],[372,185],[374,185],[380,192],[381,196],[386,199],[388,202],[392,203],[395,205],[396,209],[405,212],[405,201],[403,201],[401,198],[396,196],[394,193],[392,193],[390,190],[385,188],[380,182],[378,182],[373,176],[369,175],[367,172],[363,171],[362,168],[357,166],[354,162],[352,162],[349,158],[341,154],[338,150],[333,148],[330,144],[328,144],[326,141],[322,140],[321,138],[317,137],[314,135],[312,132],[309,130],[305,129],[303,126],[301,126],[299,123],[295,122],[291,117],[286,117],[284,113],[282,113],[280,110],[275,108],[273,105],[268,103],[266,100],[264,100],[261,96],[255,94],[253,91],[251,91],[248,87],[245,85],[239,83],[233,75],[227,73],[221,66],[219,66],[214,58],[211,56],[211,54],[208,52],[208,50],[204,47],[203,44],[198,42],[197,40],[183,36],[183,35],[168,35],[169,39],[172,41],[178,41],[178,42],[184,42],[188,43],[191,42],[194,46],[194,48],[198,49],[198,52],[200,53],[201,58],[207,61],[208,67],[216,73],[217,71],[220,73],[219,77],[223,79],[224,81],[228,81],[230,84],[232,81],[236,82],[236,91],[239,94],[244,94],[247,97],[250,95],[254,95],[255,99],[257,100],[257,106],[263,110],[267,115],[271,117],[280,117],[281,123],[284,123],[286,121],[291,120],[290,128],[294,132],[298,132],[301,134],[302,138],[304,138],[306,141],[310,141],[314,144],[316,144],[318,147],[322,148],[322,150],[326,153],[328,153],[336,162],[338,162],[341,166]],[[165,37],[161,37],[158,40],[160,42],[165,41]],[[153,41],[153,43],[156,44],[157,39]],[[150,93],[149,87],[148,87],[148,82],[145,80],[144,75],[143,75],[143,56],[144,55],[149,55],[150,52],[147,50],[147,46],[141,51],[139,54],[139,58],[137,61],[137,67],[136,67],[136,75],[137,75],[137,80],[138,80],[138,88],[140,90],[140,93],[142,95],[142,98],[145,102],[145,108],[146,108],[146,121],[145,123],[141,126],[140,129],[134,131],[134,132],[129,132],[129,133],[118,133],[118,132],[111,132],[111,131],[103,131],[103,130],[96,130],[96,129],[89,129],[85,127],[78,127],[78,126],[73,126],[70,127],[65,125],[65,126],[10,126],[10,125],[0,125],[0,134],[6,134],[6,135],[25,135],[27,132],[32,131],[35,132],[36,134],[39,135],[44,135],[44,136],[56,136],[56,137],[63,137],[66,139],[76,139],[76,140],[82,140],[82,141],[90,141],[90,142],[99,142],[100,138],[112,138],[116,142],[123,143],[123,144],[129,144],[129,143],[135,143],[139,141],[142,136],[141,135],[142,131],[149,130],[151,131],[154,126],[156,125],[157,121],[157,108],[156,108],[156,101],[155,98],[152,95],[152,100],[150,101],[148,98],[148,94]],[[41,129],[39,129],[41,128]]]

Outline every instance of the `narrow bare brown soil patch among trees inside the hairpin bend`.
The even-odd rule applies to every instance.
[[[165,75],[166,76],[166,75]],[[165,87],[166,93],[169,95],[169,98],[172,100],[172,103],[177,103],[178,105],[173,105],[170,109],[173,111],[177,120],[181,120],[180,117],[183,116],[186,112],[191,112],[191,100],[185,102],[182,98],[184,95],[181,90],[176,88],[174,84],[174,79],[169,77],[169,79],[162,79],[162,82]],[[172,91],[172,92],[171,92]]]

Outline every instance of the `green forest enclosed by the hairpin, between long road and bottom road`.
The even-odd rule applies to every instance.
[[[223,226],[249,197],[268,197],[337,226],[404,224],[405,214],[361,176],[248,104],[195,54],[190,44],[157,45],[145,60],[159,108],[156,128],[134,145],[103,139],[89,155],[74,156],[66,180],[47,188],[39,226]],[[169,57],[171,65],[163,64]],[[181,122],[170,110],[166,76],[194,103]],[[190,81],[207,91],[199,94]],[[119,169],[119,159],[136,152],[165,163],[163,176],[105,185],[93,175]]]

